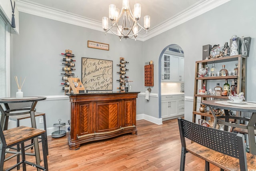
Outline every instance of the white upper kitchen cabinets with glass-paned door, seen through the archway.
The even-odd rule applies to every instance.
[[[162,82],[184,82],[184,57],[163,54]]]

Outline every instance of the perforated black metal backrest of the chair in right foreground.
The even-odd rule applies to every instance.
[[[204,147],[239,159],[240,170],[247,170],[244,135],[205,127],[182,118],[178,118],[178,124],[182,147],[186,148],[186,137]]]

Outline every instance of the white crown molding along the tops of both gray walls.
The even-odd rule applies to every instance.
[[[164,24],[157,26],[152,30],[148,30],[148,34],[139,34],[137,40],[146,41],[229,1],[231,0],[201,0],[194,6],[183,10],[172,18],[169,18],[164,22]],[[16,6],[20,12],[104,32],[102,29],[102,23],[70,12],[31,3],[31,1],[28,0],[18,0]],[[112,33],[110,32],[108,34]]]

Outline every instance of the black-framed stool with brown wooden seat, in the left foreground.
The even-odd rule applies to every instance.
[[[36,165],[35,163],[31,163],[26,161],[25,157],[25,146],[24,142],[34,139],[36,137],[42,137],[42,150],[43,150],[43,157],[44,157],[44,167],[40,165]],[[22,164],[23,171],[26,171],[26,164],[36,167],[38,169],[48,171],[48,162],[47,162],[47,146],[46,146],[46,139],[45,139],[45,130],[36,129],[32,127],[25,127],[20,126],[8,130],[2,131],[2,127],[0,127],[0,171],[4,170],[4,161],[5,161],[5,153],[6,149],[11,148],[15,145],[21,146],[21,156],[22,160],[12,167],[6,169],[6,171],[10,171],[15,167]]]

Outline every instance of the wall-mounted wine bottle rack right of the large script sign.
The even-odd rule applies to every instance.
[[[128,64],[129,62],[125,61],[124,58],[120,58],[120,64],[117,64],[116,66],[120,67],[120,71],[117,72],[119,74],[119,80],[118,81],[120,84],[119,87],[117,87],[117,89],[119,89],[119,92],[128,92],[128,82],[126,82],[125,80],[127,80],[127,76],[125,76],[126,71],[128,71],[128,69],[126,69],[126,64]]]

